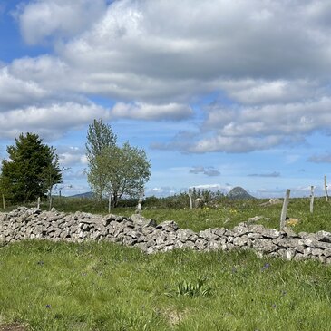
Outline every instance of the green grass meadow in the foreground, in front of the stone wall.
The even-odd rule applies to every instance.
[[[167,296],[201,277],[208,296]],[[250,251],[24,241],[0,248],[0,287],[0,321],[38,331],[331,329],[330,267]]]

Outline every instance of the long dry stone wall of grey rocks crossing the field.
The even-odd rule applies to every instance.
[[[0,213],[0,242],[5,245],[23,239],[53,241],[107,240],[141,248],[146,253],[190,248],[200,251],[254,249],[258,255],[286,259],[312,258],[331,264],[331,233],[295,233],[278,231],[261,225],[240,223],[234,229],[205,229],[194,232],[180,229],[167,220],[157,224],[139,214],[130,218],[118,215],[92,215],[76,212],[65,214],[56,210],[18,208]]]

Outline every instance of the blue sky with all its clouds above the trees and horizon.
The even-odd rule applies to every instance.
[[[146,151],[147,196],[322,195],[330,77],[328,0],[0,0],[0,158],[37,133],[68,168],[58,190],[89,191],[102,119]]]

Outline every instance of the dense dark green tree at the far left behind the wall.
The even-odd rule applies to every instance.
[[[37,134],[23,133],[7,146],[9,160],[2,161],[0,187],[13,202],[43,197],[62,181],[58,156]]]

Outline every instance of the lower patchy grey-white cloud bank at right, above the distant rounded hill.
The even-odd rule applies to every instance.
[[[184,149],[246,152],[266,150],[282,143],[302,143],[307,134],[330,130],[330,108],[330,97],[232,109],[213,106],[207,112],[200,139]]]

